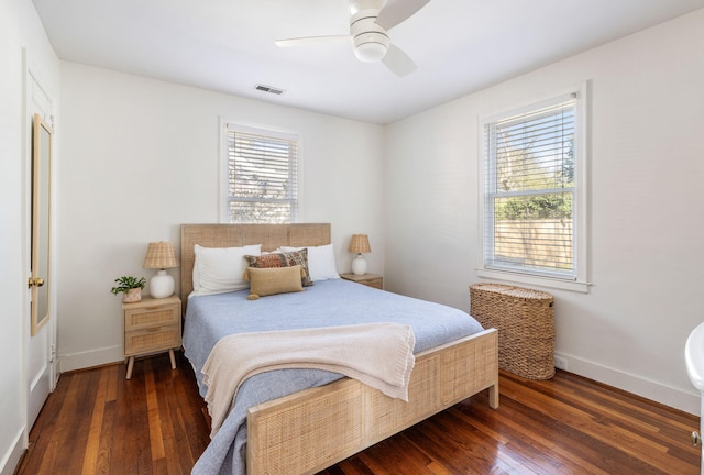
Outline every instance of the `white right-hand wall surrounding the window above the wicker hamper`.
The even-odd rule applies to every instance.
[[[557,352],[569,371],[698,413],[683,349],[704,319],[702,44],[698,10],[391,125],[387,288],[469,309],[477,118],[590,80],[594,286],[552,291]]]

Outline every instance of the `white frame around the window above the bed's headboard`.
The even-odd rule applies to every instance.
[[[230,154],[229,142],[231,132],[242,132],[250,134],[257,134],[263,136],[271,136],[278,140],[289,140],[297,142],[297,165],[296,165],[296,211],[292,217],[290,222],[301,222],[302,209],[301,209],[301,189],[302,189],[302,144],[300,134],[279,128],[270,125],[244,123],[234,120],[228,120],[220,118],[220,170],[218,177],[219,189],[219,220],[221,223],[233,224],[237,223],[230,220],[230,201],[229,194],[229,175],[230,175]],[[261,222],[260,222],[261,223]],[[241,223],[242,224],[242,223]]]

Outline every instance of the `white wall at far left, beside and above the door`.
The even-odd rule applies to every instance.
[[[24,77],[28,64],[44,87],[58,90],[58,59],[31,0],[0,2],[0,474],[11,474],[26,446],[25,339],[29,338],[26,230],[30,131]]]

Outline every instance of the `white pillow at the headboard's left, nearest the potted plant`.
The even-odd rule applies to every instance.
[[[242,290],[250,284],[242,279],[246,268],[245,255],[260,255],[262,244],[243,247],[194,246],[194,294],[213,295]]]

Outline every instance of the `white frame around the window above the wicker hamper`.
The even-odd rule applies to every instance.
[[[487,223],[486,213],[494,212],[491,202],[487,203],[488,192],[485,189],[487,184],[486,174],[487,161],[485,159],[485,130],[486,125],[495,123],[498,120],[507,119],[521,113],[539,110],[549,104],[559,103],[561,100],[568,99],[570,96],[575,101],[575,125],[574,125],[574,191],[573,191],[573,218],[572,218],[572,239],[573,239],[573,263],[575,266],[574,277],[564,277],[550,275],[548,272],[531,273],[530,269],[515,268],[510,266],[498,267],[490,266],[486,258],[487,234],[485,225]],[[497,280],[508,280],[522,285],[535,285],[550,287],[564,290],[573,290],[579,292],[588,292],[591,286],[588,281],[588,82],[583,82],[578,87],[565,90],[556,91],[547,97],[527,101],[526,103],[507,109],[499,113],[483,115],[479,118],[479,243],[480,251],[477,253],[476,274],[481,278],[491,278]],[[495,167],[495,162],[488,164],[488,167]],[[495,173],[493,174],[495,176]],[[491,207],[491,211],[488,210]],[[493,220],[492,220],[493,222]]]

